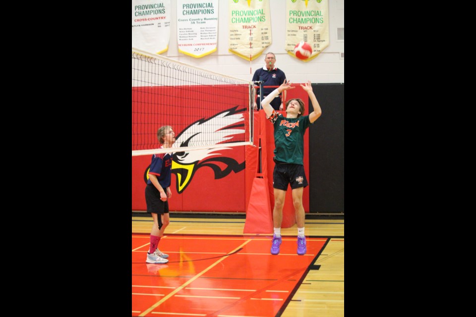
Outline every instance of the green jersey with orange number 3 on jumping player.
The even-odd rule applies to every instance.
[[[274,125],[274,158],[280,162],[304,165],[304,133],[309,116],[286,118],[273,111],[269,120]]]

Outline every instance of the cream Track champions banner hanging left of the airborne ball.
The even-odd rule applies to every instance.
[[[253,60],[271,45],[269,0],[229,0],[229,51]]]

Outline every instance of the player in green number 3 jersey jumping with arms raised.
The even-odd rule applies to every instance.
[[[306,238],[304,236],[304,208],[302,207],[302,193],[307,186],[307,179],[304,173],[304,133],[309,124],[314,123],[321,115],[321,107],[316,96],[312,92],[311,82],[300,85],[309,95],[314,111],[309,115],[304,113],[304,102],[300,99],[291,99],[286,102],[286,117],[276,112],[270,102],[281,92],[296,87],[291,87],[291,83],[285,82],[269,94],[262,102],[261,106],[266,112],[266,116],[274,125],[274,210],[273,226],[274,235],[271,244],[271,254],[279,254],[281,245],[281,222],[283,221],[283,206],[286,198],[288,184],[291,185],[293,194],[293,204],[296,211],[297,221],[297,254],[306,253]]]

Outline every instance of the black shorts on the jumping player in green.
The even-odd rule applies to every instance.
[[[288,184],[291,184],[292,189],[307,186],[304,166],[300,164],[287,164],[275,161],[273,187],[276,189],[288,190]]]

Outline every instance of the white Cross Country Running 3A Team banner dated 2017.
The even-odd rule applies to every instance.
[[[179,52],[203,57],[217,50],[218,0],[177,0]]]

